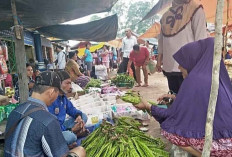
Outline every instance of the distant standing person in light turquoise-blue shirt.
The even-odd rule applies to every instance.
[[[89,51],[91,47],[91,43],[87,43],[86,44],[86,49],[85,49],[85,65],[87,67],[87,75],[90,77],[90,73],[92,71],[92,67],[93,67],[93,56],[91,54],[91,52]]]

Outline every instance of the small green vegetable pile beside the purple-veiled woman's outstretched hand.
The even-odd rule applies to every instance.
[[[139,93],[128,91],[121,99],[125,102],[132,103],[133,105],[137,105],[141,102]]]

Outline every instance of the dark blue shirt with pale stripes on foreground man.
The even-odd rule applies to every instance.
[[[20,121],[15,131],[5,139],[4,156],[64,156],[68,146],[55,116],[47,111],[46,105],[38,99],[29,98],[20,104],[8,118],[6,132],[27,111],[42,107]]]

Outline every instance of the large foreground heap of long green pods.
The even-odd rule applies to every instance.
[[[103,122],[82,142],[88,157],[168,157],[161,139],[139,131],[140,123],[121,117],[116,125]]]

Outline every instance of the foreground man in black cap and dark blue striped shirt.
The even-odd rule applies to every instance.
[[[61,81],[55,72],[36,77],[32,96],[9,115],[4,156],[85,156],[82,147],[69,151],[56,117],[48,112],[59,90]]]

